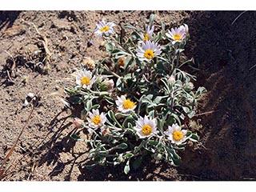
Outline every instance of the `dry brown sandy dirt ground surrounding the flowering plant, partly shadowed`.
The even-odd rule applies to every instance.
[[[104,56],[96,37],[94,45],[86,48],[98,20],[142,25],[153,13],[170,27],[184,22],[190,26],[186,55],[194,58],[199,70],[188,70],[198,76],[195,85],[208,90],[198,111],[202,145],[187,147],[176,168],[148,159],[129,175],[122,173],[122,166],[88,170],[86,143],[70,138],[76,131],[71,112],[63,110],[57,94],[65,98],[63,87],[72,86],[70,74],[86,57]],[[40,97],[2,180],[255,180],[256,12],[238,17],[241,13],[1,11],[0,162],[32,110],[31,105],[22,107],[26,95],[33,92]],[[43,74],[42,67],[48,64],[50,70]]]

